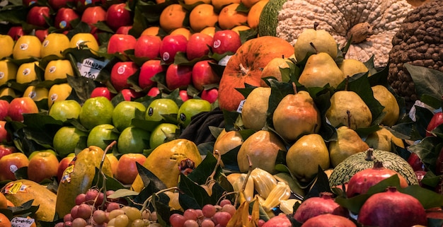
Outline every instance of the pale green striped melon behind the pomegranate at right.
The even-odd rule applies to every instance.
[[[396,153],[374,149],[374,161],[366,161],[364,159],[366,158],[366,154],[367,151],[355,153],[335,166],[333,173],[331,173],[329,177],[330,187],[343,185],[343,183],[350,180],[352,175],[360,170],[374,167],[375,160],[381,161],[385,168],[400,173],[400,175],[405,177],[409,185],[418,185],[417,175],[415,175],[413,168],[407,161],[405,161],[405,159],[401,158],[401,156],[398,156]]]

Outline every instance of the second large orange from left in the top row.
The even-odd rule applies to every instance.
[[[217,21],[219,21],[219,15],[214,12],[214,6],[211,4],[195,6],[189,14],[189,23],[195,32],[200,32],[206,27],[212,27]]]

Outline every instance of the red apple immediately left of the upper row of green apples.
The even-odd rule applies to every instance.
[[[37,104],[28,96],[11,100],[8,106],[8,116],[17,122],[23,122],[23,114],[38,113]]]

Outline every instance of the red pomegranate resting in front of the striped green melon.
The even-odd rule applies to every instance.
[[[408,187],[408,182],[405,180],[405,177],[398,174],[395,170],[385,168],[381,161],[374,161],[373,168],[360,170],[351,177],[347,183],[346,195],[350,198],[358,194],[364,194],[369,190],[369,187],[376,185],[381,182],[381,180],[385,180],[394,174],[398,175],[401,187]]]

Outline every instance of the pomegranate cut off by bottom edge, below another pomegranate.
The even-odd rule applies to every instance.
[[[335,214],[320,214],[301,225],[301,227],[357,227],[354,222],[344,216]]]

